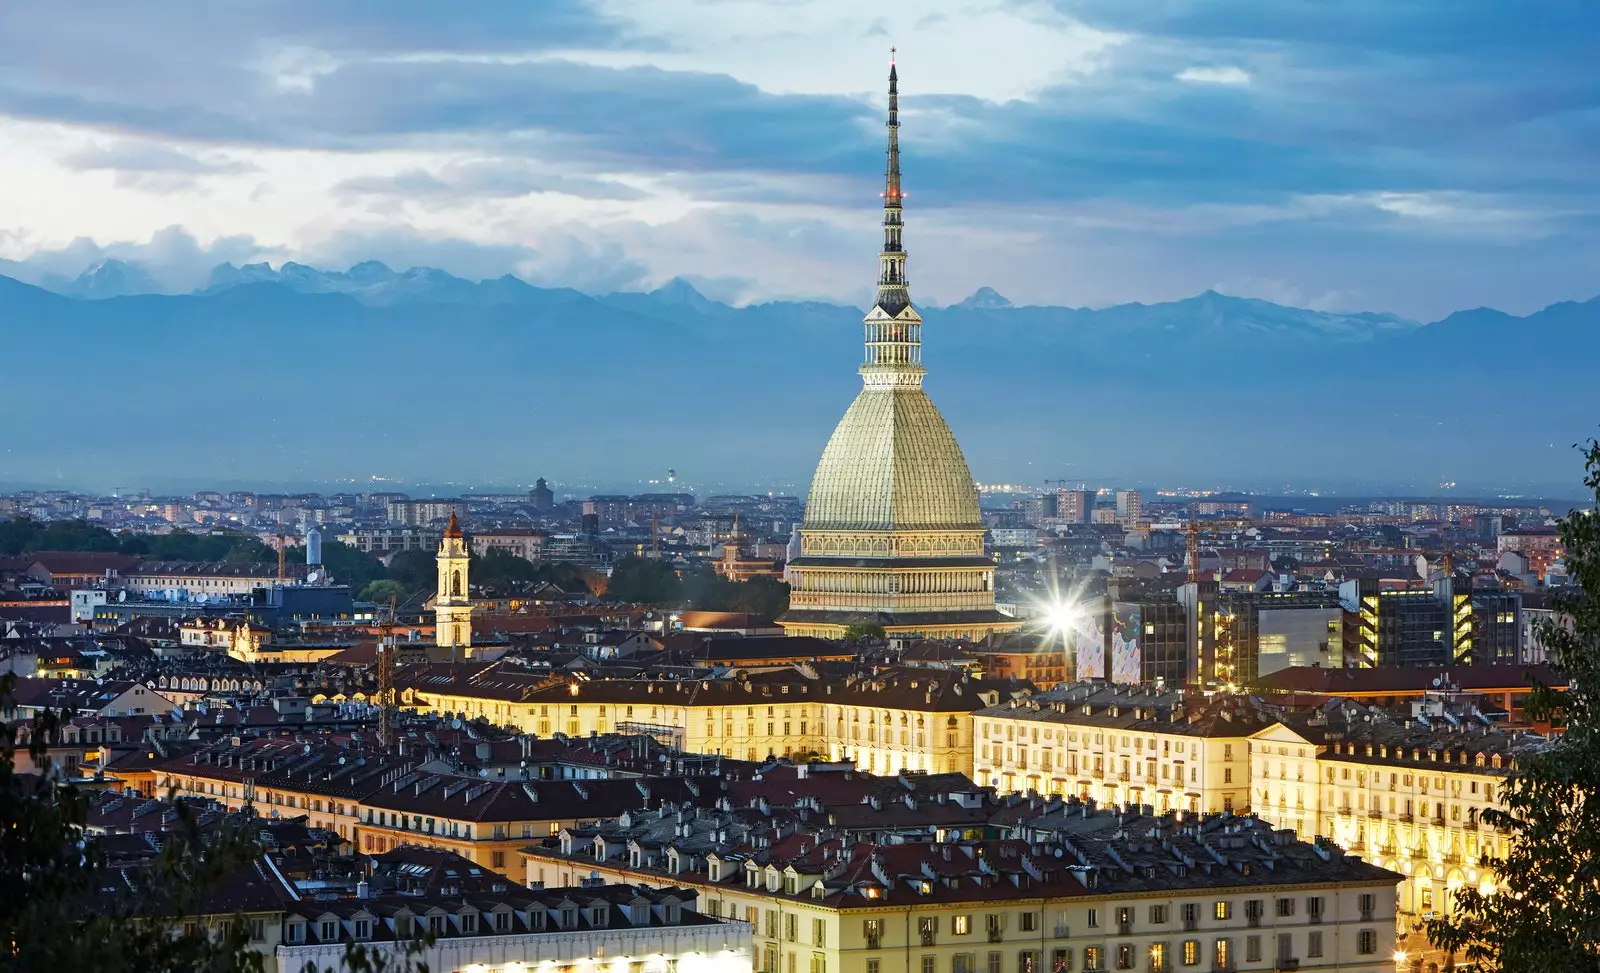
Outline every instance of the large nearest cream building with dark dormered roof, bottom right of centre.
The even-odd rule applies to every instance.
[[[630,816],[523,851],[528,882],[699,895],[763,973],[1392,971],[1400,875],[1232,815],[1054,802],[1026,837],[866,843]]]

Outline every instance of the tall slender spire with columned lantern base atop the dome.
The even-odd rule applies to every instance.
[[[890,48],[888,160],[883,170],[883,250],[878,251],[878,290],[867,312],[867,384],[922,382],[922,317],[910,306],[902,238],[906,192],[899,174],[899,70]]]

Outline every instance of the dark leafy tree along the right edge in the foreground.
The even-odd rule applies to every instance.
[[[1536,685],[1528,699],[1533,719],[1565,733],[1518,757],[1501,808],[1483,811],[1486,826],[1509,835],[1506,858],[1485,861],[1499,888],[1464,887],[1456,911],[1427,923],[1429,939],[1474,973],[1600,970],[1600,442],[1587,445],[1586,461],[1595,506],[1558,528],[1576,589],[1554,602],[1568,621],[1539,626],[1566,688]]]

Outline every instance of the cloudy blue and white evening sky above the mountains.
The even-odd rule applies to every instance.
[[[1418,318],[1600,291],[1590,0],[0,3],[0,259]]]

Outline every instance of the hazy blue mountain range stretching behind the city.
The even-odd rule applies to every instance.
[[[682,278],[586,294],[378,261],[222,264],[163,294],[107,259],[40,283],[0,277],[18,403],[0,482],[670,466],[803,490],[859,381],[861,309],[733,307]],[[1600,418],[1600,299],[1411,322],[981,288],[923,315],[930,394],[979,480],[1514,490],[1576,482],[1568,445]]]

